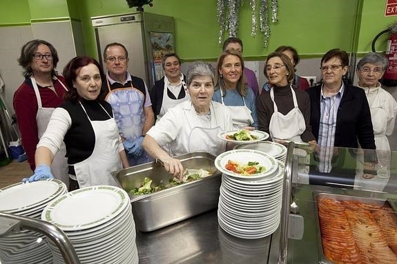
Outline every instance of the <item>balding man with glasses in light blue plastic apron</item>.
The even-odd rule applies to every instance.
[[[142,141],[155,117],[146,83],[127,72],[128,52],[121,43],[106,45],[104,63],[108,69],[103,82],[104,89],[109,91],[106,101],[112,105],[128,163],[147,163],[151,158],[142,148]]]

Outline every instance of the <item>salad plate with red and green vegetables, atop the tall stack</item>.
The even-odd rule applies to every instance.
[[[215,167],[229,176],[249,180],[272,175],[278,162],[259,150],[230,150],[216,157]]]

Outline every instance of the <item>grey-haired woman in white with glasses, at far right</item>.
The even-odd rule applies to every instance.
[[[397,102],[379,83],[387,69],[387,64],[388,61],[383,55],[371,52],[360,59],[356,68],[358,87],[365,91],[371,110],[376,153],[378,155],[376,174],[363,173],[362,157],[359,159],[361,162],[358,162],[357,165],[356,177],[362,179],[362,181],[356,185],[360,185],[362,189],[367,190],[383,190],[390,176],[391,156],[387,136],[391,136],[394,130]]]

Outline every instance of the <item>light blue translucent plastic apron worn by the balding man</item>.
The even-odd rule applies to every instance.
[[[144,94],[134,88],[132,83],[130,88],[111,90],[109,80],[106,80],[109,90],[108,95],[106,95],[106,101],[112,105],[119,132],[124,139],[135,141],[139,136],[142,136],[142,130],[144,129],[145,115],[144,108],[142,108],[142,105],[144,105]],[[130,166],[153,160],[145,150],[142,151],[140,156],[134,156],[127,152],[126,154]]]

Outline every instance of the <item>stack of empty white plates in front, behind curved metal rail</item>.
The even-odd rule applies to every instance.
[[[138,263],[135,223],[128,194],[99,185],[69,192],[48,204],[41,219],[61,228],[81,263]],[[55,262],[64,260],[55,245]]]

